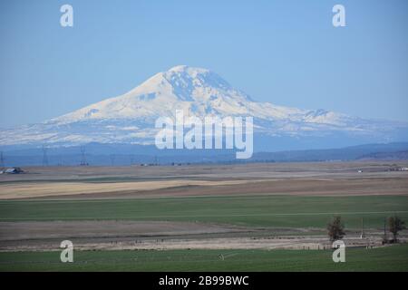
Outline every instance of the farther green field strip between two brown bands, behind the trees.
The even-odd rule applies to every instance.
[[[320,227],[340,215],[346,228],[382,228],[384,218],[408,219],[407,196],[228,196],[188,198],[3,200],[0,221],[176,220],[262,227]]]

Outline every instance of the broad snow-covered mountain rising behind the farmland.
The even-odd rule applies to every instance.
[[[341,146],[408,140],[408,125],[403,122],[364,120],[334,111],[255,102],[216,73],[180,65],[153,75],[121,96],[39,124],[2,130],[0,145],[152,144],[156,119],[174,118],[176,110],[200,118],[254,117],[255,150],[264,150],[268,142],[277,140],[306,140],[317,147],[319,142],[333,146],[339,140]],[[257,148],[257,144],[263,145]]]

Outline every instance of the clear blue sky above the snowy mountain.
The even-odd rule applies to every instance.
[[[73,28],[60,7],[73,5]],[[332,25],[345,5],[346,27]],[[408,121],[408,1],[0,2],[0,126],[120,95],[178,64],[260,102]]]

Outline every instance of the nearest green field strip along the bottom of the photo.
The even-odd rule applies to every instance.
[[[224,260],[219,255],[224,256]],[[408,245],[329,250],[171,250],[0,253],[0,271],[408,271]]]

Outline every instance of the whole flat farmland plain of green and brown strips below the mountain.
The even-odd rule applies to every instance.
[[[53,167],[0,175],[0,270],[149,271],[168,259],[174,271],[194,263],[190,269],[249,271],[391,263],[385,268],[406,271],[407,247],[381,241],[385,218],[408,220],[408,172],[393,171],[407,164]],[[350,260],[359,261],[348,267],[334,267],[328,250],[325,226],[334,216],[345,224]],[[73,241],[77,264],[59,261],[63,239]],[[206,262],[229,254],[223,264]],[[144,262],[133,265],[134,255]]]

